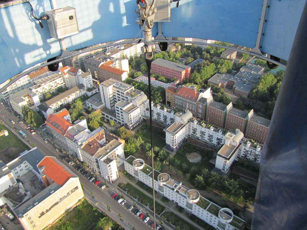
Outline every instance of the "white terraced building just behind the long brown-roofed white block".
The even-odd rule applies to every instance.
[[[42,79],[36,80],[34,85],[29,89],[36,93],[39,99],[45,98],[46,93],[52,93],[59,87],[64,87],[65,82],[61,72],[46,76]]]

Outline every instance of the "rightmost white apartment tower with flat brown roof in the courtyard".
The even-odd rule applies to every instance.
[[[220,169],[222,173],[227,173],[232,163],[237,158],[239,151],[238,148],[241,145],[243,139],[243,132],[238,128],[235,133],[227,132],[224,136],[225,143],[222,148],[216,153],[215,167]]]

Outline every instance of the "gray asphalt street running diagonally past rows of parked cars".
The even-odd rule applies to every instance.
[[[121,195],[121,192],[117,192],[117,188],[115,188],[113,185],[108,186],[104,190],[101,190],[98,186],[95,186],[93,183],[89,182],[83,175],[81,175],[79,172],[75,170],[75,168],[71,165],[69,165],[65,160],[62,160],[59,158],[59,155],[61,154],[59,151],[57,151],[51,144],[45,143],[45,136],[41,137],[39,135],[39,129],[37,130],[37,133],[32,135],[30,132],[28,132],[25,128],[23,128],[19,124],[19,119],[15,117],[15,115],[12,115],[10,111],[5,109],[2,105],[0,105],[0,117],[2,121],[8,122],[9,126],[14,126],[18,130],[22,130],[25,132],[27,137],[24,139],[29,140],[30,144],[35,144],[36,147],[41,150],[46,156],[55,156],[57,159],[59,159],[64,165],[66,165],[68,168],[70,168],[74,173],[76,173],[77,176],[79,176],[80,183],[83,185],[84,190],[84,196],[87,198],[87,200],[91,201],[93,204],[96,205],[98,208],[100,208],[103,212],[107,213],[113,220],[118,222],[120,225],[122,225],[125,229],[132,229],[132,226],[135,226],[136,229],[152,229],[150,227],[150,224],[153,223],[153,217],[150,217],[150,220],[146,223],[144,223],[144,220],[146,217],[143,217],[142,220],[139,217],[136,217],[134,215],[133,211],[130,212],[128,208],[130,205],[133,204],[133,199],[130,199],[127,195],[125,196],[125,199],[127,200],[127,203],[124,205],[124,207],[117,203],[114,199],[112,199],[112,195],[114,193],[117,193]],[[2,116],[3,115],[3,116]],[[15,124],[13,125],[10,120],[13,120]],[[17,134],[17,136],[22,139],[20,135]],[[101,187],[101,186],[100,186]],[[93,196],[91,196],[91,192],[93,193]],[[107,205],[110,205],[111,212],[107,210]],[[141,206],[139,203],[137,205],[138,209],[144,210],[143,213],[146,214],[147,209],[145,209],[144,206]],[[150,211],[150,210],[149,210]],[[119,219],[118,215],[122,214],[122,218]],[[150,211],[150,213],[152,213]],[[146,216],[146,215],[145,215]],[[158,218],[159,219],[159,218]],[[157,221],[158,221],[157,219]],[[156,223],[156,226],[158,223]],[[164,224],[165,229],[174,229],[172,226],[166,226]]]

